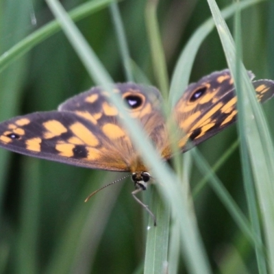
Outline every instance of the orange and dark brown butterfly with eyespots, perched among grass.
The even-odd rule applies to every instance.
[[[249,76],[253,79],[252,73]],[[253,86],[262,103],[274,95],[271,80],[258,80]],[[127,113],[142,125],[163,160],[171,158],[158,89],[124,83],[114,84],[113,92],[121,95]],[[172,113],[180,136],[179,149],[184,152],[188,140],[198,145],[234,123],[236,101],[227,69],[190,84]],[[35,112],[0,123],[0,147],[75,166],[127,171],[132,173],[136,190],[145,190],[151,175],[120,119],[123,117],[108,101],[108,92],[95,87],[68,99],[56,111]],[[136,191],[132,194],[135,197]]]

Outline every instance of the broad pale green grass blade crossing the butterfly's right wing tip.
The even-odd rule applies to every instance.
[[[262,220],[266,237],[266,247],[269,253],[269,268],[274,271],[274,188],[272,179],[274,177],[274,149],[271,137],[267,130],[262,109],[258,104],[253,86],[247,75],[247,71],[240,61],[236,60],[236,51],[232,36],[223,20],[215,1],[208,0],[210,10],[221,38],[227,64],[235,79],[236,85],[240,81],[242,95],[238,92],[239,119],[242,119],[240,134],[244,134],[247,149],[256,183],[258,199],[262,208]],[[239,62],[237,74],[236,62]],[[236,86],[238,88],[238,86]],[[242,102],[241,102],[242,100]]]

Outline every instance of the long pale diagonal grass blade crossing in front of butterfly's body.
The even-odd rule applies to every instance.
[[[95,58],[94,53],[88,47],[82,35],[78,32],[69,16],[66,15],[60,3],[54,0],[47,0],[47,3],[53,14],[58,18],[60,24],[64,29],[64,33],[69,38],[75,51],[82,59],[83,64],[86,66],[90,77],[95,79],[95,82],[101,84],[106,90],[110,90],[110,77],[103,71],[98,58]],[[197,229],[197,224],[192,220],[187,211],[187,203],[182,198],[179,191],[179,182],[177,177],[173,175],[171,169],[159,160],[158,153],[153,149],[150,142],[148,142],[142,128],[129,119],[125,109],[123,108],[123,101],[115,94],[109,92],[110,101],[114,103],[115,107],[124,117],[123,122],[127,127],[129,134],[136,145],[138,151],[142,153],[145,163],[151,166],[151,171],[155,175],[155,179],[162,182],[163,197],[171,203],[174,216],[179,220],[180,232],[182,238],[182,249],[185,251],[186,266],[190,273],[210,273],[210,266],[206,260],[206,254],[201,244],[201,238]],[[134,134],[138,132],[138,134]]]

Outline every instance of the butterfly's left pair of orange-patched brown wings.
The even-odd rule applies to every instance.
[[[148,134],[163,124],[155,88],[117,84],[114,92],[127,102],[127,111]],[[0,147],[77,166],[112,171],[145,167],[121,125],[119,113],[101,88],[65,101],[58,111],[18,116],[0,124]],[[152,134],[153,135],[153,134]]]

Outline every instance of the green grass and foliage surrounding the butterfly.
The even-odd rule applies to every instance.
[[[111,2],[62,1],[67,11],[72,10],[88,44],[58,2],[48,0],[51,9],[42,0],[0,2],[1,121],[55,109],[90,86],[106,84],[110,77],[114,82],[143,79],[147,83],[149,79],[163,92],[171,82],[174,104],[189,77],[190,82],[196,81],[227,67],[224,49],[227,58],[233,44],[227,42],[223,49],[206,1],[162,0],[158,6],[145,0],[109,6]],[[214,1],[208,2],[214,10]],[[230,16],[227,24],[233,33],[237,5],[225,0],[218,5],[221,9],[230,5],[223,16]],[[238,8],[243,9],[236,27],[243,63],[256,79],[273,79],[274,5],[240,1]],[[60,25],[51,22],[52,12]],[[218,10],[214,20],[221,25]],[[236,49],[240,51],[240,43]],[[227,59],[229,68],[240,66],[238,59],[232,64],[233,58]],[[273,115],[273,104],[264,106],[266,117]],[[170,105],[166,107],[168,111]],[[253,108],[260,116],[260,109]],[[274,134],[273,119],[268,119],[270,132],[264,121],[256,119],[259,129],[252,136],[245,132],[249,122],[240,119],[240,153],[232,126],[199,145],[199,151],[188,152],[183,164],[182,159],[176,161],[176,169],[182,166],[180,176],[163,165],[155,151],[149,151],[141,130],[133,134],[156,181],[153,193],[148,190],[142,197],[158,216],[158,227],[149,229],[149,216],[132,199],[130,182],[110,186],[84,203],[90,192],[123,174],[80,169],[1,149],[0,273],[162,273],[166,268],[169,273],[266,273],[265,264],[273,273],[268,264],[274,262],[269,140]],[[132,122],[127,123],[133,133]],[[242,140],[247,140],[246,150]],[[258,169],[260,163],[264,169]],[[255,211],[244,191],[251,191],[247,182],[252,176]],[[250,218],[250,212],[257,212],[257,220]],[[254,222],[261,222],[262,232]],[[262,238],[269,244],[262,245]]]

